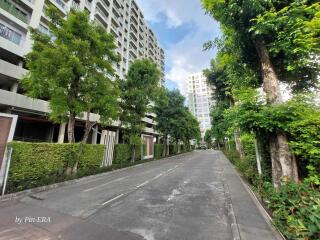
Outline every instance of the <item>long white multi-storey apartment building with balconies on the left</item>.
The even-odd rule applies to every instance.
[[[27,72],[23,56],[32,47],[28,27],[49,34],[49,20],[44,14],[49,5],[57,7],[62,15],[71,8],[84,9],[91,20],[115,36],[121,62],[114,67],[120,78],[124,78],[132,61],[142,58],[155,62],[164,78],[164,51],[135,0],[0,0],[0,112],[18,116],[14,140],[63,142],[66,139],[65,124],[48,120],[48,102],[26,97],[18,84]],[[154,117],[150,113],[143,119],[145,134],[150,136],[156,134]],[[99,121],[99,116],[91,114],[90,119]],[[83,127],[84,120],[77,119],[76,140],[83,135]],[[121,138],[117,122],[107,129],[117,132],[117,141]],[[99,142],[97,133],[101,130],[93,131],[92,143]]]

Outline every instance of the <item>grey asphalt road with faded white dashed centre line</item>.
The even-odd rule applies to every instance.
[[[0,203],[0,240],[228,240],[235,229],[241,239],[277,239],[227,159],[211,150]]]

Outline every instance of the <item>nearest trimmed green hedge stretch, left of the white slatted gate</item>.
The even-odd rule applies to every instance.
[[[21,191],[65,180],[66,167],[76,161],[79,144],[12,142],[8,192]],[[86,145],[78,171],[82,175],[100,167],[103,145]]]

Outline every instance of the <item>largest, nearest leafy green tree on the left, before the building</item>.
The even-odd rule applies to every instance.
[[[29,73],[22,85],[28,96],[49,100],[53,121],[68,119],[68,142],[75,142],[76,117],[85,113],[85,131],[78,161],[96,122],[90,113],[100,115],[101,124],[117,118],[119,91],[112,77],[112,65],[119,57],[112,34],[89,21],[88,13],[71,10],[64,19],[55,7],[47,11],[51,19],[50,35],[30,29],[34,41],[32,51],[26,55]],[[70,174],[71,166],[67,169]]]

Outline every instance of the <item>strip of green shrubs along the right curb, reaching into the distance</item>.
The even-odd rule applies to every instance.
[[[272,211],[273,223],[288,240],[320,239],[320,192],[311,187],[308,179],[304,183],[288,182],[275,189],[270,182],[270,172],[264,170],[262,176],[257,173],[253,139],[244,135],[242,143],[245,158],[238,153],[225,151],[237,170],[253,185],[261,200]]]

